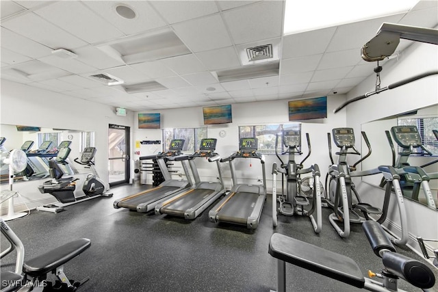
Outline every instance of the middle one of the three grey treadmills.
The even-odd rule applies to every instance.
[[[201,140],[199,150],[188,157],[194,185],[179,191],[175,196],[164,200],[164,202],[159,202],[155,206],[155,214],[169,214],[192,220],[203,213],[207,207],[224,194],[225,188],[219,165],[220,156],[214,152],[216,150],[216,142],[217,139],[214,138]],[[216,162],[220,182],[201,181],[195,163],[195,159],[198,157],[205,157],[209,162]]]

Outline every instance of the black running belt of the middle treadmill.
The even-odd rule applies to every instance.
[[[193,208],[201,202],[206,196],[214,193],[212,189],[194,189],[185,196],[181,196],[177,200],[166,204],[160,209],[161,213],[183,216],[185,211]]]

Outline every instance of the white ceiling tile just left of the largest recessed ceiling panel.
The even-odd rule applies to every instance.
[[[108,55],[102,53],[101,50],[93,46],[75,49],[73,53],[78,55],[78,61],[100,70],[125,65],[123,61],[118,61],[112,57],[108,57]]]

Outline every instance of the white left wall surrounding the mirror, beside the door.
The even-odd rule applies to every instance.
[[[126,117],[116,116],[114,107],[49,92],[27,85],[1,80],[0,124],[20,124],[43,128],[94,131],[96,133],[96,170],[107,185],[108,182],[108,124],[133,125],[133,112]],[[3,131],[3,128],[0,128]],[[12,140],[0,133],[6,141]],[[21,144],[19,145],[21,146]],[[19,147],[18,146],[18,147]],[[11,150],[8,148],[8,150]],[[72,156],[73,157],[73,156]],[[74,157],[73,157],[74,158]],[[82,180],[83,181],[83,180]],[[16,199],[17,210],[33,209],[44,203],[54,202],[49,194],[40,194],[41,182],[16,183],[14,189],[22,198]],[[1,185],[1,189],[8,187]],[[77,189],[81,189],[79,183]],[[27,207],[24,205],[27,204]]]

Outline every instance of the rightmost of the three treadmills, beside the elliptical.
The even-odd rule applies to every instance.
[[[246,225],[250,229],[259,226],[261,211],[266,200],[266,171],[265,157],[257,152],[257,145],[257,138],[240,138],[239,150],[220,160],[221,162],[229,161],[233,187],[231,187],[229,194],[224,196],[209,211],[209,220],[211,222]],[[260,159],[263,171],[263,185],[237,183],[233,164],[233,160],[236,158]]]

